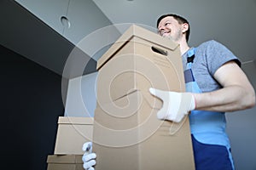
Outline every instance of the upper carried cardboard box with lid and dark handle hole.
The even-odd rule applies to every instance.
[[[111,103],[138,89],[150,98],[149,87],[184,91],[180,55],[177,43],[131,26],[97,61],[98,104]]]

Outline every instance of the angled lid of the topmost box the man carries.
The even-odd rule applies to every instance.
[[[140,37],[148,42],[157,43],[158,45],[171,50],[174,50],[179,46],[179,44],[172,42],[170,39],[165,37],[160,37],[160,35],[154,33],[153,31],[148,31],[143,27],[132,25],[121,37],[119,37],[116,42],[113,43],[111,48],[109,48],[108,51],[103,54],[100,59],[98,59],[96,69],[99,70],[102,65],[104,65],[108,59],[113,56],[113,54],[122,48],[126,42],[130,41],[132,37]]]

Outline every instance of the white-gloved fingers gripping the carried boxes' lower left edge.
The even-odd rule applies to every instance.
[[[85,142],[83,144],[84,155],[82,157],[82,160],[84,162],[83,167],[85,170],[94,170],[94,167],[96,165],[96,153],[92,153],[92,143],[91,142]]]

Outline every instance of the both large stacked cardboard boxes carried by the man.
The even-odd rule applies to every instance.
[[[148,88],[185,91],[179,45],[131,26],[97,63],[96,170],[195,169],[189,119],[157,119]]]

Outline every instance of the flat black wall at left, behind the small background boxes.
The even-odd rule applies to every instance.
[[[1,169],[46,170],[63,116],[61,76],[0,45]]]

